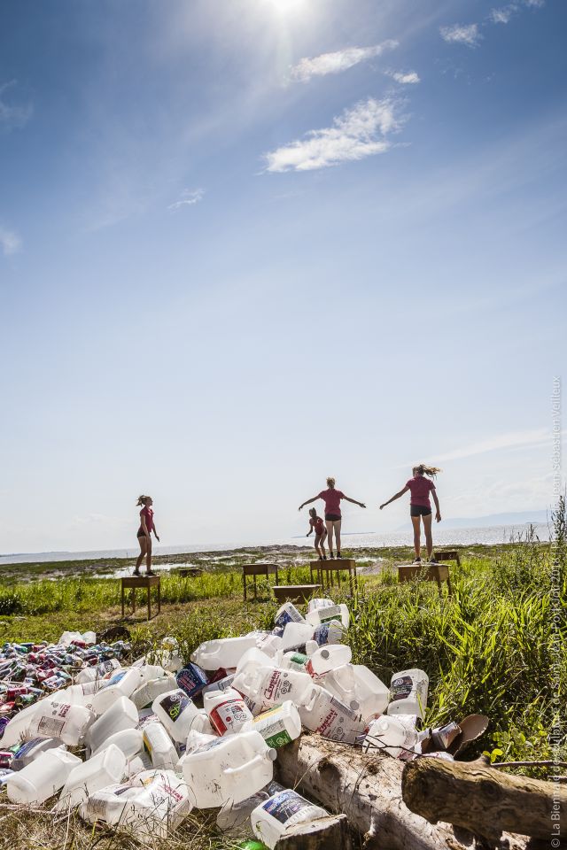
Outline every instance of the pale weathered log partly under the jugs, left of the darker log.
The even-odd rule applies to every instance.
[[[404,766],[386,753],[369,755],[304,734],[278,750],[277,763],[283,784],[298,785],[328,811],[344,813],[365,835],[366,850],[470,850],[473,844],[470,832],[429,823],[409,810],[401,797]],[[506,833],[500,846],[525,850],[526,839]]]

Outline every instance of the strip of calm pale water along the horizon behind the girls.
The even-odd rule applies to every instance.
[[[525,525],[495,525],[481,529],[434,529],[434,541],[437,545],[459,545],[466,546],[472,544],[499,544],[509,543],[510,537],[525,535],[527,526]],[[549,529],[547,525],[537,524],[534,526],[536,534],[540,540],[549,539]],[[369,546],[411,546],[412,532],[408,531],[392,531],[389,533],[369,532],[368,534],[343,534],[344,549],[361,549]],[[279,540],[240,540],[234,543],[201,543],[198,545],[187,544],[183,546],[154,546],[154,555],[178,555],[183,553],[197,552],[224,552],[229,549],[241,549],[252,546],[303,546],[309,545],[310,541],[306,537],[283,537]],[[313,545],[311,543],[311,545]],[[139,549],[106,549],[97,552],[42,552],[42,553],[20,553],[12,555],[0,555],[0,565],[2,564],[28,564],[28,563],[43,563],[45,561],[56,560],[90,560],[90,559],[105,559],[105,558],[132,558],[139,553]],[[176,565],[179,566],[179,565]],[[166,565],[160,565],[160,568],[165,568]]]

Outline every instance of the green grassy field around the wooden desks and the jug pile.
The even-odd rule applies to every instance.
[[[348,640],[354,661],[368,665],[387,684],[401,668],[420,667],[428,673],[427,723],[459,721],[475,712],[488,715],[485,737],[465,757],[473,758],[479,748],[501,751],[498,761],[551,758],[548,730],[557,720],[554,663],[563,717],[567,697],[564,512],[563,518],[556,517],[555,525],[555,544],[542,544],[527,535],[510,545],[464,547],[461,568],[452,568],[451,598],[439,597],[434,583],[417,580],[400,585],[394,564],[407,559],[408,551],[387,549],[356,553],[363,575],[353,599],[337,588],[330,593],[334,599],[346,601],[351,610]],[[121,621],[117,581],[64,576],[30,581],[27,565],[20,565],[0,585],[0,638],[57,640],[66,629],[102,630],[123,622],[132,633],[136,651],[169,634],[178,638],[188,657],[202,640],[271,628],[276,605],[269,599],[268,589],[262,589],[263,599],[244,603],[237,568],[243,560],[265,559],[265,553],[231,553],[224,560],[219,553],[215,555],[214,565],[209,563],[209,571],[197,579],[163,574],[162,612],[149,623],[144,622],[144,607],[136,618],[127,616]],[[291,559],[294,566],[283,568],[282,583],[308,581],[308,557],[307,550],[295,553]],[[190,559],[198,560],[193,555]],[[554,581],[561,592],[559,608],[552,612],[554,562]],[[206,567],[206,558],[201,565]],[[46,572],[50,574],[49,569]],[[345,585],[343,588],[346,591]],[[557,610],[559,617],[554,621],[552,614]],[[556,627],[561,631],[560,641],[555,639]],[[563,738],[563,760],[567,758],[564,744]],[[518,770],[547,775],[542,768]],[[61,842],[67,830],[74,836],[75,847],[117,846],[116,838],[91,835],[65,820],[60,828],[56,822],[50,836],[40,839],[36,832],[44,827],[40,815],[3,814],[0,846],[8,837],[11,846],[64,846]],[[230,846],[215,837],[208,815],[198,815],[171,842],[160,846],[174,850],[181,846],[179,842],[195,850]],[[66,846],[70,846],[68,835]]]

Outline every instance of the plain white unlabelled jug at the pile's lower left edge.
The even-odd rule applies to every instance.
[[[80,758],[63,748],[47,750],[27,767],[8,777],[8,799],[24,806],[39,805],[56,794],[74,767],[81,763]]]

